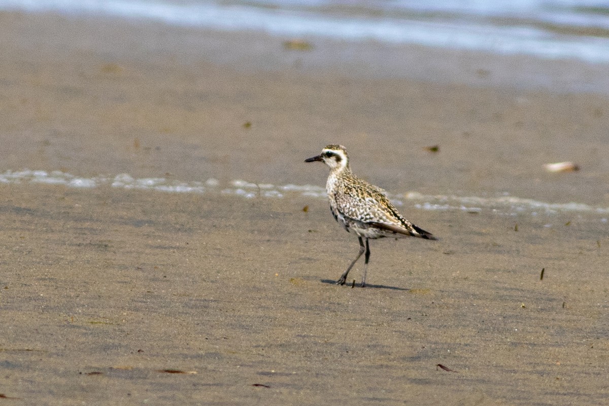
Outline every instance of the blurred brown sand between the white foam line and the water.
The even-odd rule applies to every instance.
[[[300,161],[338,142],[356,173],[388,191],[609,204],[597,187],[609,171],[605,97],[370,76],[340,44],[287,52],[266,36],[54,15],[0,21],[5,38],[21,38],[1,45],[2,170],[321,185],[325,171]],[[566,160],[582,170],[543,170]]]

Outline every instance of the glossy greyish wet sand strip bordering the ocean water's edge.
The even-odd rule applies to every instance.
[[[29,40],[38,37],[37,46],[46,43],[37,50],[43,54],[50,51],[67,56],[66,52],[88,52],[94,46],[100,55],[114,58],[144,57],[150,63],[150,53],[155,52],[157,57],[180,65],[206,61],[241,74],[283,72],[312,78],[330,74],[364,80],[405,79],[440,86],[498,88],[516,93],[609,96],[609,63],[371,40],[341,41],[314,35],[294,38],[254,30],[197,29],[112,16],[2,11],[0,18],[9,30],[15,21],[23,24],[21,30]],[[62,30],[53,28],[57,25],[62,25]],[[89,32],[83,32],[83,27]],[[118,35],[125,31],[130,32],[129,38]],[[74,32],[83,37],[74,38]],[[94,39],[97,36],[104,41]],[[303,40],[310,47],[304,51],[286,49],[284,42],[289,40]],[[166,65],[161,59],[156,62],[157,68]]]

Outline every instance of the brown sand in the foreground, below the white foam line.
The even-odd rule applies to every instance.
[[[417,212],[441,240],[372,242],[352,289],[319,200],[10,186],[1,208],[2,392],[26,404],[608,396],[600,227]]]

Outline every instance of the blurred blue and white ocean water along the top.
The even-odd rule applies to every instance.
[[[609,2],[598,0],[0,0],[0,10],[609,63]]]

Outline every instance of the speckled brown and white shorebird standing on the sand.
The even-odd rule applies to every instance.
[[[305,159],[307,163],[316,161],[323,162],[330,168],[326,181],[326,193],[334,220],[347,232],[353,231],[359,240],[359,253],[347,270],[340,275],[336,281],[337,285],[345,284],[349,271],[365,253],[361,286],[366,286],[366,273],[370,261],[369,239],[407,236],[427,240],[437,239],[429,231],[404,219],[387,198],[387,192],[356,177],[349,166],[347,149],[342,145],[326,145],[322,149],[322,153]]]

